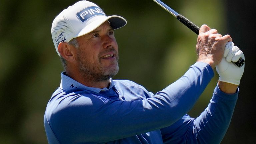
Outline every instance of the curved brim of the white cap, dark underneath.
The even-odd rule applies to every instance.
[[[101,24],[103,24],[105,21],[109,21],[110,26],[113,29],[118,29],[126,25],[126,20],[123,17],[120,16],[99,16],[97,20],[93,21],[92,23],[88,24],[85,28],[83,28],[79,33],[74,35],[74,38],[88,34],[98,28]]]

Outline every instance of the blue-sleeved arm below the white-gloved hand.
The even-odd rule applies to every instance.
[[[229,87],[227,88],[230,91]],[[165,144],[218,144],[230,124],[236,100],[236,93],[227,94],[217,86],[205,111],[196,119],[184,115],[173,125],[161,129]]]

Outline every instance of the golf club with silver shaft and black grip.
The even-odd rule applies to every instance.
[[[162,8],[164,8],[167,12],[172,14],[174,17],[176,17],[181,23],[183,23],[185,26],[187,26],[189,29],[191,29],[193,32],[195,32],[197,35],[199,34],[200,28],[197,25],[192,23],[190,20],[188,20],[184,16],[178,14],[176,11],[171,9],[169,6],[164,4],[162,1],[160,1],[160,0],[153,0],[153,1],[156,2],[158,5],[160,5]],[[242,67],[245,63],[245,60],[240,58],[237,62],[232,62],[232,63],[234,63],[238,67]]]

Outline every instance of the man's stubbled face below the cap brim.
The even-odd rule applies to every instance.
[[[118,73],[118,45],[109,22],[78,37],[77,41],[77,62],[85,78],[106,81]]]

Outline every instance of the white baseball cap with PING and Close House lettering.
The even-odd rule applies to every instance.
[[[69,42],[73,38],[90,33],[105,21],[108,21],[113,29],[126,25],[123,17],[106,16],[99,6],[86,0],[64,9],[52,22],[52,40],[58,55],[60,56],[58,46],[61,42]]]

